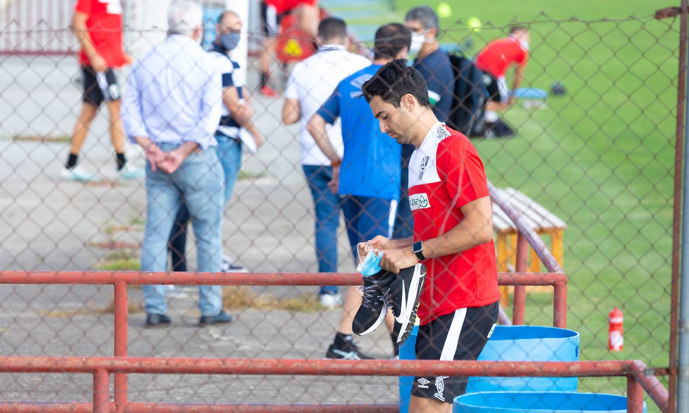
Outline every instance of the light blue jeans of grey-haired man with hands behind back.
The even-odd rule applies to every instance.
[[[161,143],[164,152],[178,145]],[[223,172],[213,148],[191,153],[172,174],[152,171],[146,165],[146,227],[141,251],[141,271],[166,271],[167,240],[174,217],[184,198],[196,236],[198,271],[220,271],[223,227]],[[143,286],[147,314],[167,313],[165,286]],[[223,310],[220,286],[198,287],[198,309],[202,315]]]

